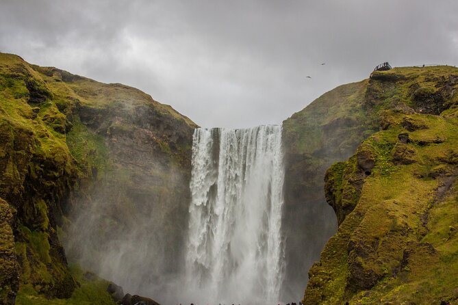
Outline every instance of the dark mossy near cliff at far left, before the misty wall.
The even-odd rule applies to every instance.
[[[17,273],[38,293],[69,297],[76,282],[55,230],[60,201],[77,177],[57,128],[65,118],[54,112],[53,94],[38,72],[13,55],[1,54],[0,63],[0,197],[13,216]],[[17,288],[12,282],[10,289]]]

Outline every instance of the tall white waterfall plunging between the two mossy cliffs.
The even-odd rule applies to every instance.
[[[196,129],[186,290],[198,304],[277,304],[283,281],[280,126]]]

